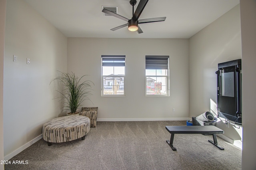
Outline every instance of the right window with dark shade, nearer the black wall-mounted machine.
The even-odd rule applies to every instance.
[[[146,56],[146,96],[169,96],[169,56]]]

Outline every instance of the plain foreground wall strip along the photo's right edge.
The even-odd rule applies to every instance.
[[[242,169],[256,169],[256,1],[240,0],[242,30]]]

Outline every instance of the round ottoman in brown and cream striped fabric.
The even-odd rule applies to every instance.
[[[43,125],[43,139],[48,146],[53,143],[68,142],[82,138],[90,130],[90,119],[86,116],[63,116]]]

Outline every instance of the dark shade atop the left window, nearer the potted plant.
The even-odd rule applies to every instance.
[[[125,56],[102,55],[102,66],[125,66]]]

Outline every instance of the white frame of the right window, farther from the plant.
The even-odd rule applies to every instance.
[[[164,61],[164,63],[162,62],[147,62],[148,58],[153,58],[153,59],[157,59],[157,58],[165,58],[167,59],[167,62]],[[145,67],[145,96],[170,96],[170,69],[169,69],[169,56],[146,56],[145,58],[146,60],[146,67]],[[148,69],[147,69],[148,68]],[[146,74],[146,70],[156,70],[155,75],[147,75]],[[166,70],[166,75],[157,75],[157,70]],[[166,94],[147,94],[147,86],[148,86],[148,81],[147,78],[150,77],[165,77],[166,78]]]

